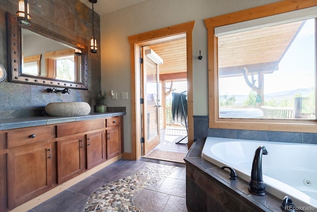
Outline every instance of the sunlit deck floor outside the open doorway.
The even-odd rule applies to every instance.
[[[187,132],[185,128],[165,128],[160,131],[160,143],[154,150],[158,151],[170,151],[186,153],[188,151],[188,145],[176,144],[175,142],[180,141],[186,137]],[[188,138],[186,137],[180,143],[187,143]]]

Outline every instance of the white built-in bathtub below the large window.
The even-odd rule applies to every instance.
[[[230,166],[249,182],[255,150],[264,145],[262,156],[265,191],[279,199],[292,198],[302,211],[317,209],[317,145],[207,137],[202,157],[221,167]]]

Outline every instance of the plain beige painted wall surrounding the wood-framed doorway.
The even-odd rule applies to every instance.
[[[207,29],[204,19],[278,0],[146,0],[101,17],[101,84],[108,106],[124,106],[124,151],[131,152],[131,74],[128,36],[195,20],[193,29],[194,115],[208,115]],[[198,60],[199,50],[203,60]],[[128,100],[121,100],[121,92]]]

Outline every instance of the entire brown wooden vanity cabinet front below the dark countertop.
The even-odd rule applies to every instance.
[[[0,131],[0,211],[122,153],[122,128],[117,116]]]

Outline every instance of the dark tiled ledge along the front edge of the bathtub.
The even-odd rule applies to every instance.
[[[233,190],[239,194],[245,201],[257,205],[263,211],[270,212],[285,212],[280,208],[282,200],[266,193],[265,196],[259,197],[252,195],[248,191],[249,183],[239,178],[238,181],[229,179],[229,172],[220,169],[220,167],[210,163],[202,157],[202,150],[205,144],[205,139],[198,139],[193,143],[187,152],[184,160],[187,163],[197,167],[204,175],[209,176],[218,182],[222,183],[225,187]],[[238,176],[239,177],[239,176]],[[301,211],[298,211],[301,212]]]

